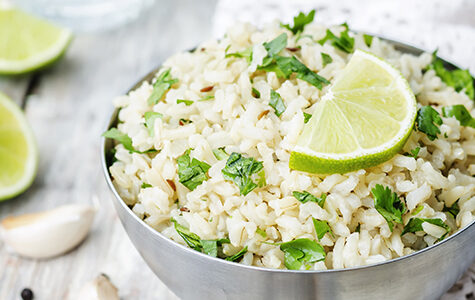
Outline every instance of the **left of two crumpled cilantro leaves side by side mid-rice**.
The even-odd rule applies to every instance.
[[[211,166],[196,158],[191,159],[190,151],[191,149],[188,149],[182,156],[178,157],[177,164],[179,181],[192,191],[208,179],[206,172]]]

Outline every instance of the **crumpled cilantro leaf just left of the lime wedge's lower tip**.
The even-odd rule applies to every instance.
[[[262,162],[254,158],[246,158],[240,153],[233,152],[226,161],[226,166],[221,170],[224,179],[233,181],[238,187],[241,195],[246,196],[258,185],[254,183],[251,176],[262,170]]]

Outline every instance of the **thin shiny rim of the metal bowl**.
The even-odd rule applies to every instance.
[[[371,33],[367,33],[367,32],[364,32],[364,31],[358,31],[356,33],[370,34],[370,35],[372,35],[374,37],[377,37],[381,40],[389,42],[398,51],[401,51],[403,53],[413,54],[413,55],[420,55],[424,52],[425,53],[431,53],[431,52],[427,51],[426,49],[421,48],[421,47],[417,47],[417,46],[415,46],[411,43],[402,42],[400,40],[389,38],[389,37],[386,37],[384,35],[371,34]],[[195,49],[196,48],[191,49],[189,51],[193,51]],[[446,60],[445,58],[440,57],[439,55],[437,55],[437,57],[440,58],[443,61],[444,65],[447,66],[450,69],[454,69],[454,68],[461,69],[457,64],[455,64],[455,63],[453,63],[449,60]],[[149,81],[152,78],[154,78],[156,72],[158,72],[160,67],[161,67],[161,64],[158,67],[154,68],[152,71],[148,72],[136,84],[134,84],[130,89],[128,89],[126,94],[128,94],[129,92],[131,92],[131,91],[135,90],[136,88],[138,88],[141,84],[143,84],[143,82]],[[112,113],[110,114],[111,118],[107,121],[107,126],[105,126],[105,130],[108,130],[112,126],[116,125],[117,118],[118,118],[118,113],[119,113],[119,109],[113,107],[112,108]],[[414,258],[416,258],[420,255],[423,255],[426,252],[433,252],[434,249],[443,247],[443,245],[445,245],[447,243],[450,243],[451,241],[456,239],[459,235],[462,235],[462,234],[466,233],[469,230],[475,230],[475,220],[472,220],[472,222],[470,222],[470,224],[468,224],[465,227],[459,229],[457,232],[455,232],[454,234],[452,234],[448,238],[446,238],[446,239],[444,239],[440,242],[437,242],[437,243],[435,243],[431,246],[423,248],[421,250],[417,250],[413,253],[403,255],[403,256],[400,256],[400,257],[397,257],[397,258],[393,258],[393,259],[390,259],[390,260],[386,260],[386,261],[383,261],[383,262],[378,262],[378,263],[369,264],[369,265],[361,265],[361,266],[350,267],[350,268],[328,269],[328,270],[288,270],[288,269],[273,269],[273,268],[267,268],[267,267],[250,266],[250,265],[244,265],[244,264],[240,264],[240,263],[236,263],[236,262],[230,262],[230,261],[227,261],[227,260],[224,260],[224,259],[221,259],[221,258],[216,258],[216,257],[209,256],[207,254],[204,254],[202,252],[199,252],[199,251],[196,251],[192,248],[189,248],[185,245],[182,245],[178,242],[175,242],[175,241],[171,240],[170,238],[166,237],[165,235],[163,235],[161,232],[159,232],[159,231],[155,230],[154,228],[152,228],[150,225],[145,223],[142,219],[140,219],[132,211],[132,209],[124,202],[124,200],[121,198],[121,196],[117,192],[117,189],[115,188],[114,184],[112,183],[112,178],[111,178],[111,174],[110,174],[108,163],[107,163],[107,150],[108,150],[107,141],[108,141],[108,139],[101,136],[101,146],[100,146],[100,149],[101,149],[101,165],[102,165],[102,170],[103,170],[104,177],[107,181],[107,185],[108,185],[109,189],[112,191],[112,193],[114,194],[115,199],[113,201],[119,202],[119,205],[121,205],[122,209],[127,211],[127,215],[129,217],[132,217],[132,219],[135,222],[139,223],[140,226],[146,228],[146,230],[148,232],[150,232],[152,235],[155,235],[157,238],[163,240],[166,243],[169,243],[177,251],[185,251],[185,252],[187,252],[191,255],[198,255],[198,257],[201,257],[204,260],[208,260],[210,263],[214,262],[214,263],[217,263],[217,264],[227,265],[228,267],[241,268],[243,270],[250,270],[250,271],[254,271],[254,272],[289,273],[289,274],[299,274],[299,275],[300,274],[309,274],[309,275],[310,274],[328,274],[328,273],[342,273],[342,272],[370,270],[370,269],[380,268],[380,267],[390,265],[390,264],[395,264],[395,263],[398,263],[399,261],[402,261],[402,260],[414,259]],[[115,208],[115,206],[114,206],[114,208]],[[122,224],[122,226],[123,226],[123,224]],[[135,245],[134,245],[134,247],[135,247]]]

